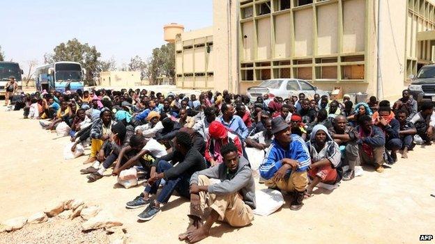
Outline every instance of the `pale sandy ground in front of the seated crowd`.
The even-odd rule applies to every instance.
[[[127,210],[125,202],[139,195],[142,186],[120,188],[114,177],[87,183],[79,174],[88,166],[82,164],[86,156],[63,159],[68,138],[43,131],[36,120],[23,120],[22,111],[4,108],[0,222],[29,216],[52,201],[77,198],[112,211],[124,222],[131,243],[178,243],[178,234],[188,226],[186,200],[173,196],[153,220],[137,222],[143,208]],[[435,193],[434,148],[418,146],[409,159],[399,158],[383,174],[368,168],[332,192],[316,190],[300,211],[290,211],[287,203],[268,217],[256,215],[249,227],[217,224],[203,243],[418,243],[420,234],[435,234],[435,197],[430,196]]]

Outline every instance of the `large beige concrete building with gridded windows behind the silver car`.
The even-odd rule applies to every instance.
[[[434,16],[434,0],[214,0],[213,27],[176,42],[176,83],[244,93],[265,79],[291,77],[388,99],[434,60]],[[206,49],[207,40],[210,70],[195,70],[206,60],[193,58],[195,45]],[[184,58],[190,46],[194,54]]]

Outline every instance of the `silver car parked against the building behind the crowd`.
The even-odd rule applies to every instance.
[[[320,96],[326,95],[329,97],[328,92],[319,90],[315,86],[312,86],[308,81],[300,79],[270,79],[261,82],[259,86],[253,86],[247,88],[247,96],[254,101],[259,96],[263,96],[266,93],[272,93],[276,97],[282,97],[283,99],[290,98],[291,96],[298,96],[299,93],[305,93],[307,97],[314,97],[314,94]]]

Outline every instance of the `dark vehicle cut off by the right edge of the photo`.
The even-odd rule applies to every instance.
[[[408,89],[417,101],[435,101],[435,65],[425,65],[417,76],[410,76]]]

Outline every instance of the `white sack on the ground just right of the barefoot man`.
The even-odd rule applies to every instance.
[[[280,209],[284,204],[284,197],[278,190],[273,189],[261,189],[255,191],[255,202],[257,202],[257,208],[254,209],[254,214],[267,216]]]

